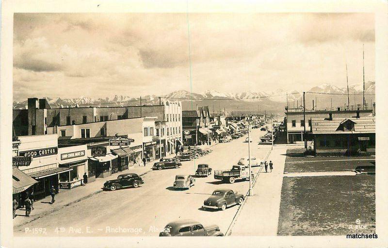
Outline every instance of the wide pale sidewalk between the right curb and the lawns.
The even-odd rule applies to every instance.
[[[267,161],[272,160],[274,170],[259,173],[253,187],[253,196],[247,197],[240,215],[231,228],[231,236],[276,236],[280,197],[287,147],[274,147]]]

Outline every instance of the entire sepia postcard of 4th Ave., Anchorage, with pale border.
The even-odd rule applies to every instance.
[[[327,247],[383,247],[376,104],[385,108],[387,81],[376,75],[387,50],[376,37],[387,37],[374,12],[104,4],[10,15],[2,109],[12,118],[2,114],[1,130],[12,154],[9,135],[1,155],[12,170],[1,167],[12,183],[1,176],[12,197],[7,188],[1,216],[12,201],[14,240],[301,247],[294,240],[318,236],[341,242]],[[266,243],[278,238],[290,243]]]

